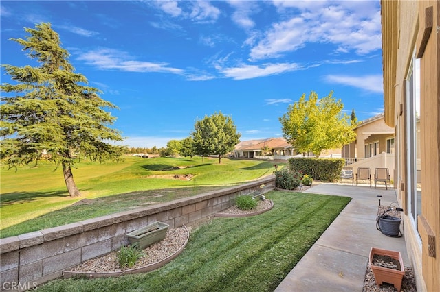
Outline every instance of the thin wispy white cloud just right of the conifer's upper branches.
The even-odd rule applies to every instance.
[[[78,60],[87,62],[99,69],[115,69],[129,72],[162,72],[183,74],[182,69],[172,68],[164,62],[145,62],[129,60],[127,53],[113,49],[97,49],[87,51],[78,56]]]

